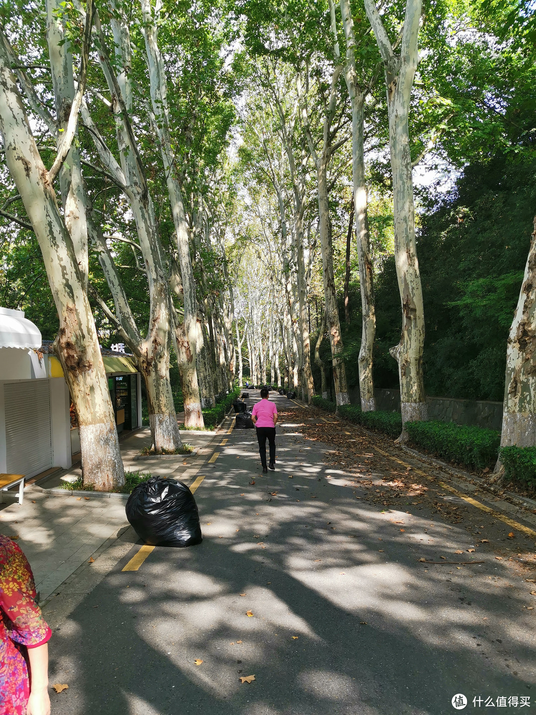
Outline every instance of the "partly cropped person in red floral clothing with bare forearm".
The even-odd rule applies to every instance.
[[[0,715],[50,715],[51,634],[26,556],[0,534]]]

